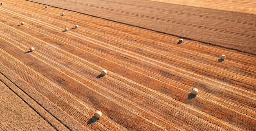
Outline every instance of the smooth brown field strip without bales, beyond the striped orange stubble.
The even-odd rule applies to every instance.
[[[32,1],[256,55],[255,14],[150,0]]]

